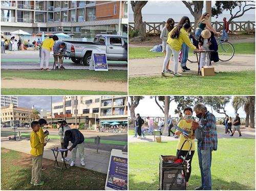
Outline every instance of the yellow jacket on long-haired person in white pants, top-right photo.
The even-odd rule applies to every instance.
[[[176,27],[173,30],[175,30],[175,29],[176,29]],[[180,51],[181,45],[183,42],[185,42],[186,45],[188,47],[190,47],[190,49],[192,49],[192,50],[197,49],[197,47],[191,43],[191,41],[188,37],[188,33],[186,32],[185,29],[183,29],[183,28],[180,29],[180,35],[179,35],[179,38],[177,38],[177,39],[170,37],[173,30],[168,33],[168,37],[167,37],[167,43],[172,47],[172,49],[174,49],[176,51]]]

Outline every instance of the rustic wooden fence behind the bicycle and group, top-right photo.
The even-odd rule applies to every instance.
[[[178,22],[175,22],[176,24]],[[192,32],[195,28],[195,22],[190,22]],[[160,34],[163,27],[165,26],[165,21],[163,22],[143,22],[144,26],[144,32],[146,34]],[[214,21],[211,22],[211,26],[217,30],[221,31],[223,27],[223,21]],[[134,29],[134,22],[129,22],[129,31]],[[247,34],[250,34],[254,32],[255,29],[255,21],[231,21],[229,23],[229,32],[231,34],[237,33],[237,32],[246,32]]]

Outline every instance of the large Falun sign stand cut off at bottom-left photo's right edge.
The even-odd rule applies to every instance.
[[[105,189],[127,190],[127,153],[112,149]]]

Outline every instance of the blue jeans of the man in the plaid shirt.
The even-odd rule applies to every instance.
[[[198,144],[199,146],[200,144]],[[200,150],[197,148],[198,160],[201,171],[201,187],[203,189],[211,190],[211,152],[212,149],[208,148],[207,150]]]

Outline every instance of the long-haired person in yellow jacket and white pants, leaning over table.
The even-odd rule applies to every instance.
[[[165,68],[170,59],[171,54],[173,53],[174,56],[174,77],[182,76],[178,73],[178,64],[179,64],[179,53],[181,50],[181,46],[183,42],[190,47],[192,50],[196,50],[197,47],[191,43],[188,37],[188,31],[190,30],[189,23],[184,23],[183,25],[179,22],[176,27],[172,31],[168,33],[167,36],[167,47],[166,47],[166,55],[163,61],[163,69],[162,69],[162,76],[165,75]]]

